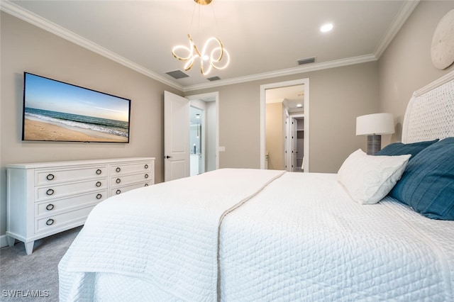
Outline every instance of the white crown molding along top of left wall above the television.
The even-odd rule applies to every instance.
[[[183,90],[183,86],[172,82],[170,79],[166,79],[160,74],[156,74],[155,72],[150,71],[150,69],[147,69],[142,65],[138,65],[137,63],[132,62],[131,60],[128,60],[125,57],[122,57],[121,55],[118,55],[115,52],[112,52],[111,50],[108,50],[100,45],[97,45],[96,43],[93,43],[92,41],[83,38],[76,33],[72,33],[72,31],[67,30],[66,28],[62,28],[62,26],[58,26],[57,24],[50,22],[47,19],[40,17],[35,13],[32,13],[31,11],[23,9],[21,6],[13,4],[9,0],[0,1],[0,10],[4,11],[5,13],[9,13],[11,16],[15,16],[16,18],[20,18],[23,21],[31,23],[38,28],[42,28],[43,30],[58,35],[60,38],[64,38],[65,40],[69,40],[74,44],[87,48],[88,50],[92,50],[92,52],[96,52],[98,55],[107,57],[114,62],[133,69],[136,72],[140,72],[147,77],[155,79],[156,81],[172,86],[175,89]]]

